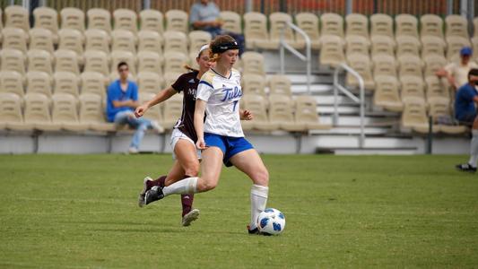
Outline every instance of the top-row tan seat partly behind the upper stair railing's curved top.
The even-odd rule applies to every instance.
[[[318,17],[314,13],[298,13],[295,15],[295,21],[297,26],[309,36],[310,47],[312,49],[320,48],[320,32],[318,28]],[[305,40],[302,35],[296,35],[299,46],[303,43],[305,46]]]

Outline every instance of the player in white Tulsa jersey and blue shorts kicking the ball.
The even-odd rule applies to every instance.
[[[194,194],[212,190],[221,176],[222,162],[235,166],[252,179],[250,190],[251,218],[248,233],[258,234],[256,220],[265,210],[269,192],[269,172],[251,143],[244,138],[240,119],[252,114],[239,111],[242,96],[240,74],[232,68],[239,47],[230,36],[218,36],[210,44],[210,58],[215,67],[206,72],[197,87],[195,128],[196,147],[203,150],[200,178],[185,178],[168,187],[152,187],[144,203],[149,204],[172,194]],[[204,113],[207,117],[205,122]]]

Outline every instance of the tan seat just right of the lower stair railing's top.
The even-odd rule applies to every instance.
[[[375,77],[373,105],[394,112],[403,110],[404,105],[400,99],[399,86],[395,76],[378,75]]]

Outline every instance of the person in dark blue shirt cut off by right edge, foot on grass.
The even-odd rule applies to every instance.
[[[458,121],[473,125],[472,143],[470,145],[470,161],[456,165],[456,169],[466,172],[476,172],[478,162],[478,117],[475,104],[478,104],[478,69],[468,73],[468,82],[456,91],[455,117]]]

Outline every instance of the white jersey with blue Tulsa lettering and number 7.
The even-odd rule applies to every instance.
[[[239,117],[241,96],[239,71],[231,69],[230,77],[212,69],[204,73],[196,94],[196,99],[207,102],[204,133],[243,137]]]

